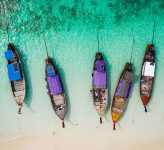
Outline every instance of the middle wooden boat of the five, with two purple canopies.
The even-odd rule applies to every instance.
[[[106,111],[108,102],[108,89],[106,79],[106,63],[100,52],[96,53],[93,72],[92,72],[92,95],[93,103],[96,111],[100,116],[100,123],[102,123],[102,116]]]

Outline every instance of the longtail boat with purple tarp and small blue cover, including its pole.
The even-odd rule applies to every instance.
[[[44,39],[45,41],[45,39]],[[46,42],[45,42],[46,46]],[[46,46],[47,58],[45,59],[45,80],[47,82],[48,95],[56,115],[62,121],[62,127],[65,128],[64,118],[66,114],[66,98],[62,86],[61,78],[53,59],[48,56]]]

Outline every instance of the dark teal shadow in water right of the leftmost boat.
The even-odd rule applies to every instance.
[[[33,109],[31,108],[33,92],[32,92],[31,74],[30,74],[30,70],[28,66],[28,58],[27,58],[27,55],[23,52],[23,50],[20,50],[20,49],[21,48],[18,47],[18,53],[22,61],[22,66],[23,66],[23,71],[24,71],[24,76],[25,76],[25,81],[26,81],[26,96],[25,96],[24,104],[26,104],[26,106],[32,112],[34,112]]]

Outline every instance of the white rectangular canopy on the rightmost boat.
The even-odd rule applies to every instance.
[[[154,77],[155,73],[155,63],[154,62],[144,62],[142,68],[142,75],[146,77]]]

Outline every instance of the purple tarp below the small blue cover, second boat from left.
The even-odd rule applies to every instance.
[[[50,93],[52,95],[53,94],[57,95],[62,93],[62,87],[58,75],[47,77],[47,81],[48,81],[48,86],[50,88]]]

